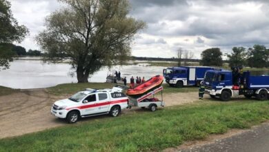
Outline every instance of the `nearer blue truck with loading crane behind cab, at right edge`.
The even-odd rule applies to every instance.
[[[269,97],[269,76],[251,76],[249,71],[208,70],[203,85],[206,94],[223,101],[240,95],[259,100]]]

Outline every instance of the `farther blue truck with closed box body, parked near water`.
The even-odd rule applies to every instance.
[[[183,86],[199,85],[207,70],[215,70],[209,66],[179,66],[163,69],[163,77],[170,86],[182,88]]]

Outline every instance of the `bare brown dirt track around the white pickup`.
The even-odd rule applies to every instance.
[[[166,106],[186,104],[198,99],[197,93],[164,94]],[[46,89],[23,90],[12,95],[0,96],[0,138],[43,131],[55,126],[66,125],[63,120],[50,114],[50,106],[66,97],[50,96]],[[132,110],[123,111],[123,115]],[[90,120],[88,120],[90,121]]]

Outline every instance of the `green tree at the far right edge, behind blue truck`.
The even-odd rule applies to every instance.
[[[266,46],[254,45],[248,49],[248,66],[263,68],[269,66],[269,49]]]

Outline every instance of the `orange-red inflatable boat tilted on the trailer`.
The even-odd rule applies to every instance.
[[[142,95],[148,93],[149,91],[152,91],[155,88],[161,86],[162,83],[163,83],[163,76],[156,75],[155,77],[148,79],[148,81],[144,82],[143,84],[140,84],[139,86],[136,86],[133,89],[128,89],[126,94],[135,98],[141,97]]]

